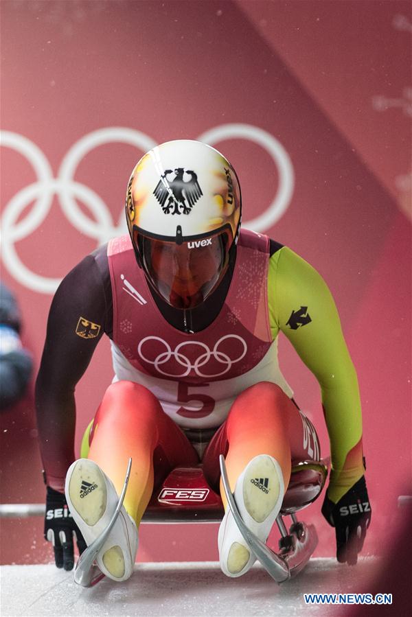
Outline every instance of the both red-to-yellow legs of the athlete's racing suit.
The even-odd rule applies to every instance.
[[[314,431],[312,439],[316,439]],[[234,401],[227,420],[207,446],[205,477],[218,489],[218,456],[224,454],[234,488],[251,458],[270,454],[282,467],[287,487],[291,461],[310,458],[310,440],[306,442],[304,422],[293,401],[271,382],[255,384]],[[177,465],[196,465],[198,456],[157,398],[144,386],[123,381],[109,386],[104,395],[93,423],[89,458],[100,465],[119,492],[130,456],[133,466],[124,505],[138,525],[154,485]]]

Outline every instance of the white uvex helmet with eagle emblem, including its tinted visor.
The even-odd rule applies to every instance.
[[[205,301],[225,275],[240,229],[238,176],[201,141],[167,141],[137,163],[126,218],[139,265],[170,305]]]

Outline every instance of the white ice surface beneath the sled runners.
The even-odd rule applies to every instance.
[[[254,566],[239,579],[225,577],[218,563],[137,563],[131,579],[115,583],[104,579],[83,589],[73,572],[55,566],[2,566],[2,617],[240,617],[347,614],[346,606],[305,605],[304,593],[351,593],[361,584],[365,591],[377,560],[361,559],[356,567],[334,559],[312,559],[295,579],[276,585]]]

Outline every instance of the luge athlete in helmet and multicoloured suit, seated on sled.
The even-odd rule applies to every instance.
[[[176,465],[201,460],[218,490],[219,454],[242,517],[266,541],[291,463],[320,456],[316,431],[279,370],[279,331],[321,388],[332,458],[322,511],[336,528],[337,559],[356,563],[370,521],[361,403],[323,279],[290,248],[240,231],[236,172],[198,141],[170,141],[143,156],[128,183],[126,218],[130,237],[71,270],[49,314],[36,408],[45,537],[56,565],[73,567],[73,532],[83,550],[105,528],[130,456],[124,508],[98,555],[108,577],[133,572],[153,487]],[[75,461],[74,391],[103,334],[115,378]],[[255,557],[222,500],[220,566],[238,577]]]

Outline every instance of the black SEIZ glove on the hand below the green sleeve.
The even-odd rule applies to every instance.
[[[371,522],[371,507],[365,476],[334,504],[326,493],[322,514],[336,531],[336,559],[353,566],[358,561]]]

